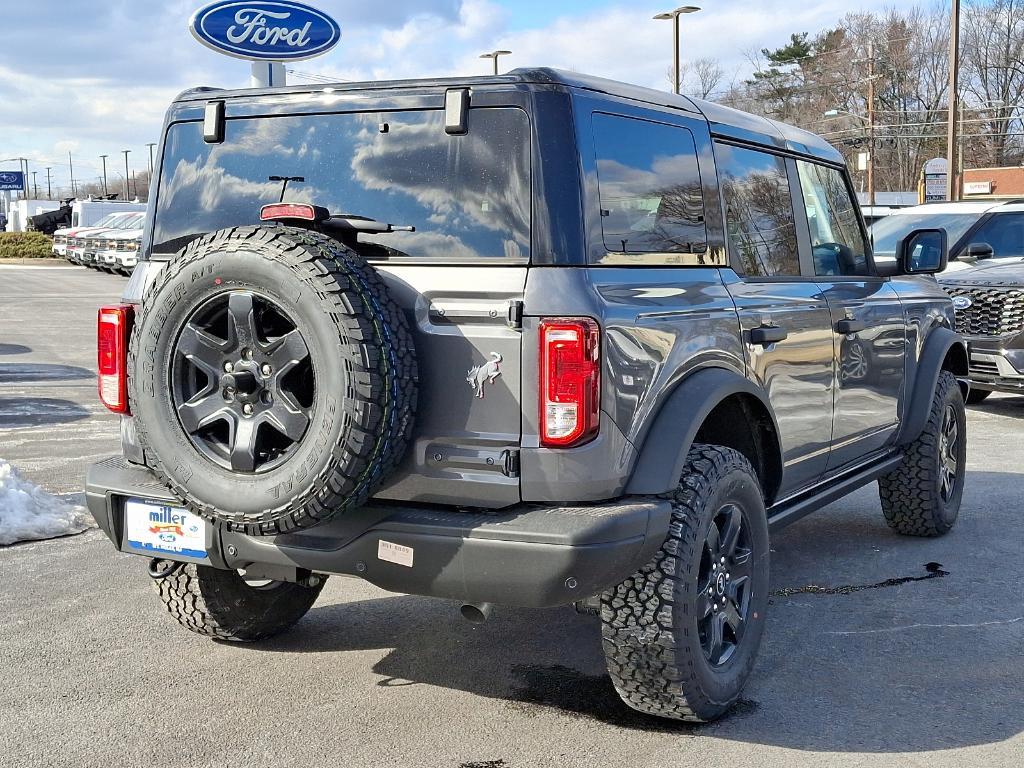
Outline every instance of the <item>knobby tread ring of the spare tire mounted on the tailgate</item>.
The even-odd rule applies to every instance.
[[[199,238],[153,282],[142,305],[153,306],[164,286],[194,268],[200,258],[237,250],[254,250],[258,257],[288,266],[297,280],[314,288],[322,306],[329,307],[338,342],[347,350],[345,357],[351,366],[346,398],[351,429],[341,430],[328,464],[299,493],[251,515],[194,498],[151,447],[144,421],[134,421],[146,466],[190,511],[224,522],[231,530],[269,536],[311,527],[366,503],[406,454],[416,417],[418,369],[406,315],[377,271],[355,251],[307,229],[240,226]],[[353,294],[358,302],[350,300]],[[136,370],[139,336],[136,324],[129,345],[129,372]],[[129,376],[129,403],[134,397]]]

